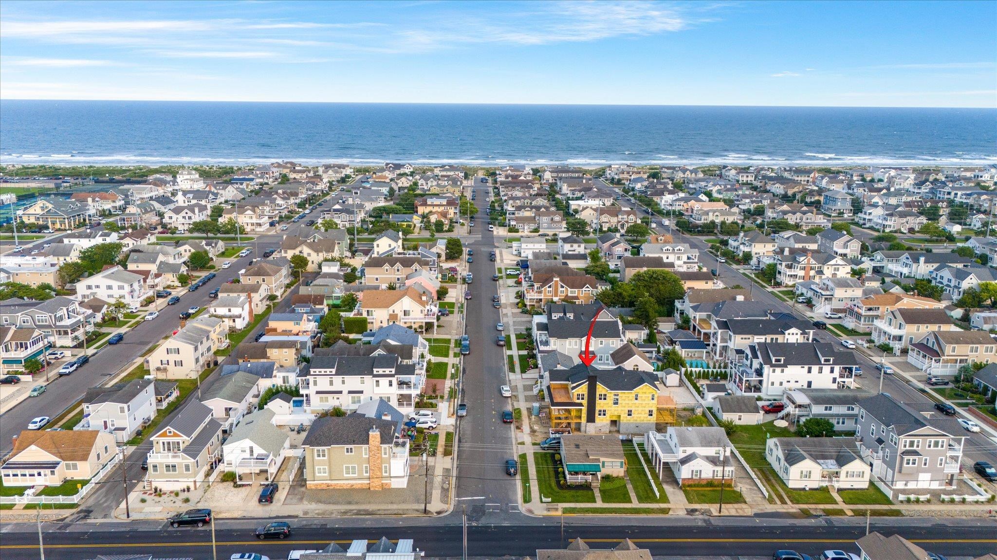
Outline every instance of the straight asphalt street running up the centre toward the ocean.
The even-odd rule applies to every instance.
[[[477,204],[487,207],[490,188],[475,177]],[[498,388],[508,385],[505,373],[505,352],[496,346],[496,324],[501,321],[492,296],[498,285],[492,280],[495,264],[489,251],[496,248],[495,236],[488,230],[487,214],[479,212],[474,235],[465,239],[474,249],[470,270],[474,282],[468,286],[473,299],[467,301],[467,334],[471,337],[471,354],[464,359],[464,395],[468,416],[461,419],[458,439],[457,497],[455,510],[464,505],[490,504],[490,510],[508,511],[517,504],[516,479],[505,474],[505,460],[512,455],[512,429],[502,423],[501,412],[508,409],[509,400],[498,394]],[[480,239],[478,238],[480,236]],[[504,302],[503,302],[504,303]]]

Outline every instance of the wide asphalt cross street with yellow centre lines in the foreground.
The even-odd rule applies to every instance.
[[[537,548],[562,548],[581,537],[594,548],[615,546],[621,539],[633,539],[654,555],[719,555],[771,557],[773,551],[791,548],[819,556],[829,548],[858,552],[854,540],[865,534],[863,519],[839,523],[830,519],[785,521],[746,518],[669,518],[657,525],[634,518],[585,517],[523,519],[514,524],[481,524],[474,519],[468,527],[468,555],[499,557],[532,556]],[[343,519],[328,525],[294,523],[287,541],[256,541],[255,526],[268,520],[221,520],[215,527],[216,558],[242,552],[265,554],[274,560],[286,558],[294,549],[321,549],[330,541],[349,542],[356,538],[411,538],[427,556],[460,557],[462,528],[459,515],[447,524],[431,524],[432,519],[405,518],[375,520],[363,524]],[[628,522],[635,521],[635,522]],[[988,519],[953,520],[940,524],[909,519],[902,530],[891,520],[875,521],[870,529],[885,534],[900,532],[925,549],[947,556],[980,556],[997,552],[997,525]],[[577,523],[577,524],[575,524]],[[344,526],[346,525],[346,526]],[[211,530],[208,527],[170,529],[127,528],[122,523],[102,525],[46,523],[45,558],[48,560],[93,558],[97,554],[153,554],[157,557],[212,558]],[[563,536],[562,536],[563,535]],[[38,534],[33,523],[0,532],[0,556],[7,559],[38,558]]]

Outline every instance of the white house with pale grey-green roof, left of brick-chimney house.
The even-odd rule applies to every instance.
[[[255,480],[260,472],[265,473],[261,480],[273,480],[291,446],[290,432],[274,425],[274,416],[268,409],[256,411],[235,426],[221,445],[226,471],[234,471],[243,482],[246,474]]]

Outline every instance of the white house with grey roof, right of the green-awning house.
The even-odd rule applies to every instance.
[[[663,434],[648,431],[644,443],[658,478],[667,465],[680,486],[683,482],[734,481],[732,445],[722,427],[669,426]]]

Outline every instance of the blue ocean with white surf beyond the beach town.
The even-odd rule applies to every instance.
[[[997,162],[997,110],[0,101],[0,163]]]

